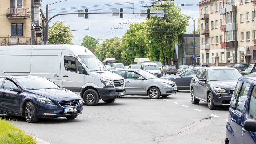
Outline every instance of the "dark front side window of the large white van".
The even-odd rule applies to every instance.
[[[78,66],[82,66],[81,63],[75,58],[70,56],[64,56],[64,65],[67,71],[77,73]]]

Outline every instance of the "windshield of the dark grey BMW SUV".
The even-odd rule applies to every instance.
[[[238,70],[208,70],[209,81],[238,80],[241,76]]]

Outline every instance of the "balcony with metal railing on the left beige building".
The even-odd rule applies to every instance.
[[[30,18],[29,8],[8,8],[8,13],[6,14],[7,18]]]

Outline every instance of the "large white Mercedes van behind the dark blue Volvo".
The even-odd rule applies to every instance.
[[[0,46],[0,75],[41,76],[80,95],[86,105],[125,95],[124,79],[87,48],[75,45]]]

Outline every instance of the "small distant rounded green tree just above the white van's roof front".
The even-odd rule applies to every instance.
[[[89,36],[89,35],[86,35],[84,38],[83,38],[83,42],[81,43],[81,46],[84,46],[86,48],[88,48],[91,52],[95,52],[95,48],[96,46],[99,44],[99,41],[96,40],[95,38]]]

